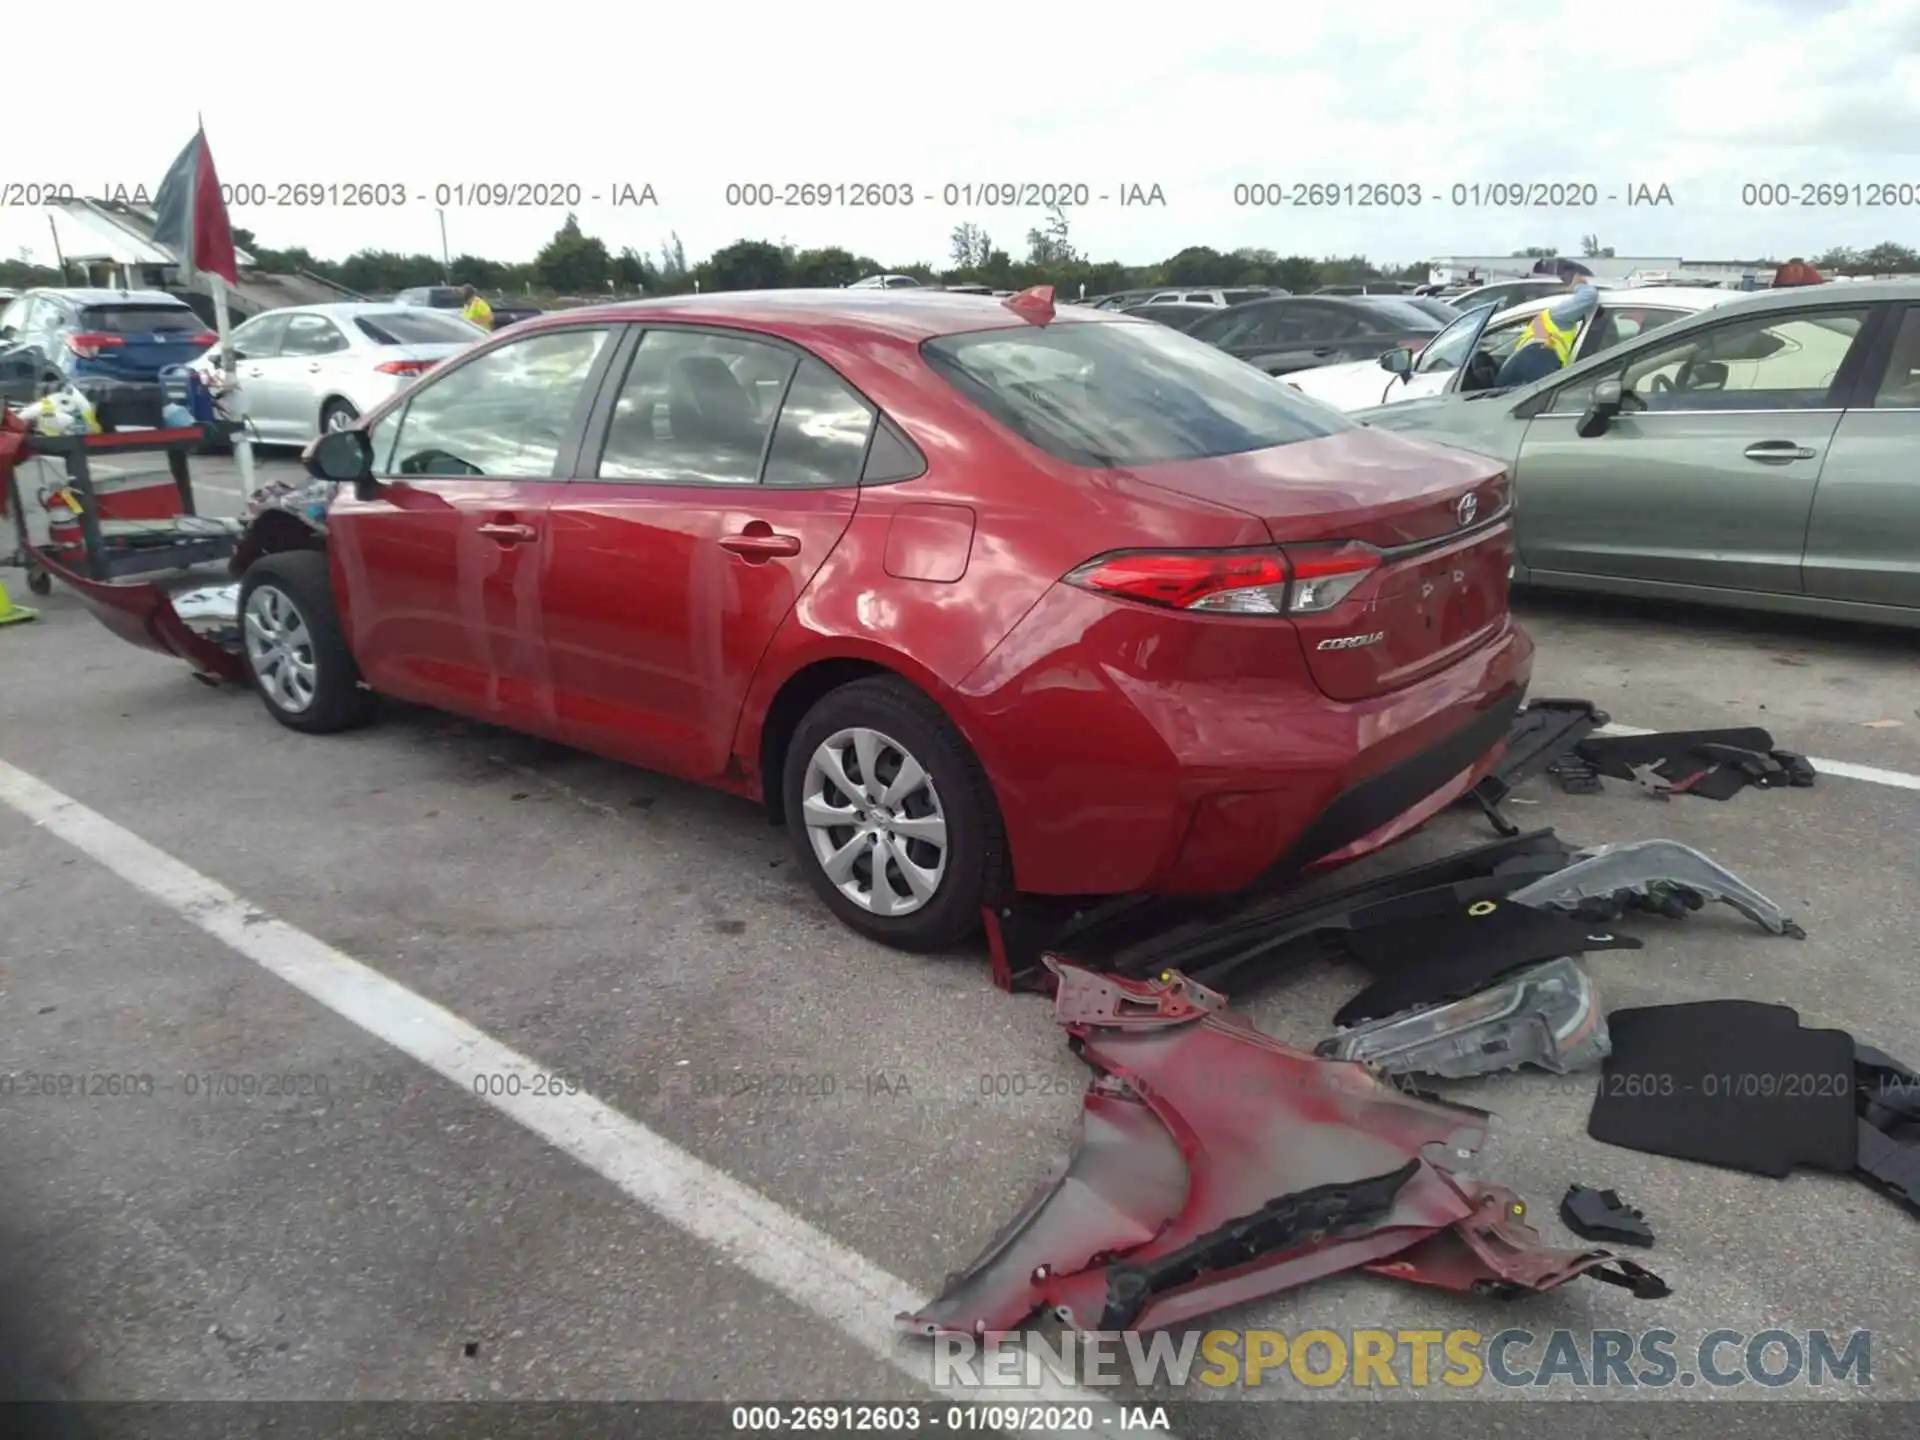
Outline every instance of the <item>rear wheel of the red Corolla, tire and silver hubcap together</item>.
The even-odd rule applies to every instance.
[[[950,948],[1008,887],[987,776],[939,705],[904,680],[856,680],[820,699],[787,747],[781,793],[814,891],[881,945]]]

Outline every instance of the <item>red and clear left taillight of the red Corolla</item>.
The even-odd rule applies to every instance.
[[[1135,551],[1089,561],[1068,584],[1171,611],[1319,614],[1380,568],[1380,553],[1359,543],[1309,545],[1290,559],[1279,551]]]

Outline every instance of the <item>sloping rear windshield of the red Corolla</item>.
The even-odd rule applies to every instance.
[[[1198,461],[1357,428],[1152,321],[975,330],[922,353],[995,420],[1073,465]]]

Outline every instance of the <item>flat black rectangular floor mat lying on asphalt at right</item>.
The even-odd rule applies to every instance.
[[[1586,1133],[1780,1179],[1857,1164],[1853,1037],[1784,1004],[1701,1000],[1607,1016],[1613,1054]]]

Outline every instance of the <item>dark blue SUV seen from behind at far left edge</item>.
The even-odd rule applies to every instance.
[[[0,351],[63,374],[108,430],[159,424],[159,372],[204,355],[217,336],[159,290],[23,290],[0,311]]]

